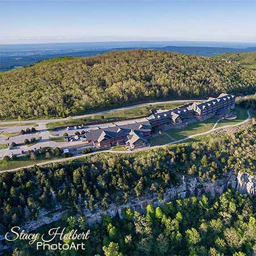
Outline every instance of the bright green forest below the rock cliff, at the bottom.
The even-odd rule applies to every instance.
[[[35,245],[19,241],[8,255],[254,256],[255,203],[255,198],[228,190],[215,198],[193,196],[160,207],[147,205],[143,214],[127,208],[122,211],[122,219],[104,216],[100,225],[88,226],[84,216],[69,216],[37,231],[44,234],[57,226],[67,228],[66,233],[89,229],[85,250],[38,251]],[[72,242],[81,240],[65,240],[69,245]]]

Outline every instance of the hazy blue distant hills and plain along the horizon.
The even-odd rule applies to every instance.
[[[0,44],[0,71],[9,71],[54,57],[88,57],[125,49],[155,49],[189,55],[215,56],[225,52],[256,51],[251,43],[224,42],[95,42],[49,44]]]

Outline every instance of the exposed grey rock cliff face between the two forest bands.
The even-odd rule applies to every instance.
[[[100,223],[102,216],[109,215],[111,217],[119,216],[122,218],[122,209],[131,208],[138,212],[144,213],[146,206],[152,204],[155,207],[167,203],[172,199],[184,198],[188,196],[201,196],[204,193],[210,193],[211,196],[222,194],[226,192],[228,188],[240,191],[241,193],[249,193],[256,196],[256,176],[250,176],[247,173],[239,172],[234,175],[233,172],[229,172],[222,179],[216,180],[214,183],[204,182],[202,183],[198,177],[183,177],[181,183],[175,187],[169,188],[163,195],[163,200],[158,201],[156,194],[148,194],[141,197],[141,199],[130,199],[129,203],[118,206],[116,204],[110,204],[106,210],[97,208],[91,212],[88,208],[84,209],[84,216],[89,225]],[[55,209],[54,213],[41,212],[38,220],[33,220],[23,225],[26,232],[31,232],[39,228],[40,226],[60,220],[65,214],[65,211],[61,211],[60,207]],[[3,236],[0,236],[0,241],[4,240]],[[1,244],[0,244],[1,252]]]

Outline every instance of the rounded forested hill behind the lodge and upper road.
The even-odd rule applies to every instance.
[[[0,118],[67,117],[128,102],[256,91],[253,71],[210,57],[117,51],[0,73]]]

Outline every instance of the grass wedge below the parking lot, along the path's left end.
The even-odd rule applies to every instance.
[[[45,155],[38,155],[36,160],[31,160],[27,156],[19,156],[15,160],[0,160],[0,171],[15,169],[19,167],[31,166],[57,158],[46,158]]]

